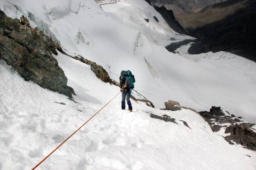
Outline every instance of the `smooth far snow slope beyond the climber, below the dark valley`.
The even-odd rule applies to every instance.
[[[33,26],[45,23],[41,28],[50,30],[67,53],[97,62],[114,80],[121,70],[131,70],[136,90],[157,108],[168,99],[198,111],[217,105],[256,122],[256,81],[230,65],[241,60],[225,60],[227,71],[169,53],[163,46],[192,37],[174,32],[144,0],[120,0],[102,8],[93,0],[2,0],[0,7],[11,17],[27,16]],[[250,69],[255,67],[249,63]],[[256,72],[249,74],[255,77]]]

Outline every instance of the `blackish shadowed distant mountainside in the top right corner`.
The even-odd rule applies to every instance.
[[[223,3],[204,9],[201,17],[211,10],[229,10],[230,14],[226,17],[208,23],[198,28],[187,29],[191,36],[197,37],[200,43],[193,44],[189,49],[191,54],[207,53],[208,51],[228,51],[242,57],[256,61],[256,1],[244,0],[233,4],[233,0],[229,0],[230,4],[223,6]],[[233,9],[241,7],[233,13]],[[224,16],[225,16],[224,15]],[[212,16],[205,16],[212,17]],[[222,18],[222,16],[221,16]]]

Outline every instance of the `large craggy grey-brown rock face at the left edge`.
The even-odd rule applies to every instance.
[[[52,53],[61,47],[40,30],[29,27],[28,20],[12,19],[0,11],[0,59],[11,65],[25,80],[72,97],[67,77]]]

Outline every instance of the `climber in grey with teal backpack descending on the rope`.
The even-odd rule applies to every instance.
[[[135,78],[130,70],[121,71],[120,80],[120,88],[122,92],[122,103],[121,108],[124,110],[126,108],[126,102],[128,104],[128,109],[131,112],[133,110],[132,103],[130,102],[130,94],[132,89],[134,88]]]

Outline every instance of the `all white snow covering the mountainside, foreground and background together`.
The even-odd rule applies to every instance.
[[[156,108],[170,99],[198,111],[215,105],[256,122],[255,62],[224,52],[189,55],[186,46],[177,49],[181,56],[169,53],[164,46],[193,38],[173,31],[144,0],[101,6],[93,0],[1,0],[0,8],[12,18],[28,17],[32,27],[42,29],[42,21],[67,53],[100,64],[114,80],[131,70],[135,90]],[[24,81],[0,61],[1,170],[33,168],[119,92],[88,65],[55,57],[78,103]],[[134,112],[121,110],[118,96],[38,169],[255,170],[256,152],[229,145],[197,113],[132,103]]]

